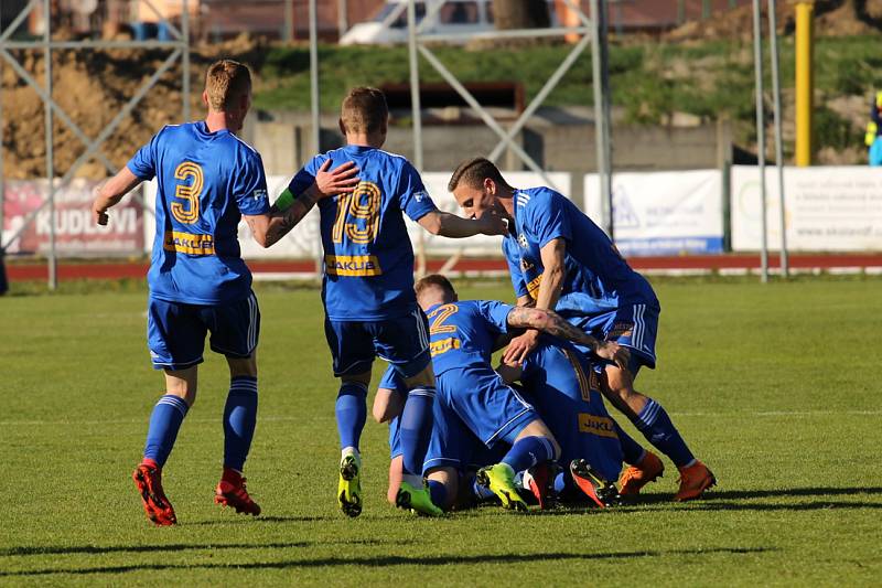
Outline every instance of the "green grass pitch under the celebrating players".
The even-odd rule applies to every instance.
[[[638,388],[717,473],[707,500],[671,503],[667,463],[634,506],[416,518],[385,502],[386,428],[369,421],[364,514],[348,520],[334,498],[336,385],[319,293],[262,286],[246,473],[263,515],[212,502],[228,378],[208,354],[165,468],[180,520],[168,528],[148,523],[129,478],[162,389],[146,292],[0,299],[0,584],[879,582],[882,280],[656,287],[659,367]],[[510,299],[499,284],[461,295]]]

